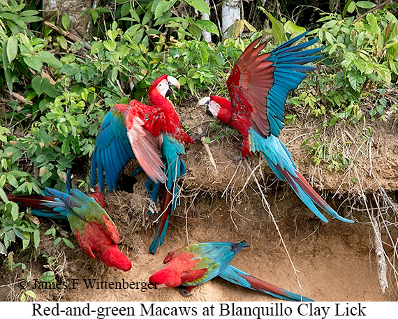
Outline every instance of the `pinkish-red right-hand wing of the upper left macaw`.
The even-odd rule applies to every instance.
[[[167,180],[161,155],[161,116],[159,110],[138,101],[131,101],[124,114],[131,149],[144,172],[154,183],[165,183]]]

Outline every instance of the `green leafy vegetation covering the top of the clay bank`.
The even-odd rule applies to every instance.
[[[145,99],[149,84],[165,73],[182,85],[174,97],[177,105],[209,92],[226,95],[226,77],[251,40],[272,36],[275,40],[266,47],[271,50],[305,29],[283,17],[279,6],[256,6],[254,16],[230,28],[234,38],[221,40],[216,20],[201,20],[195,13],[210,12],[205,1],[178,4],[184,10],[176,0],[117,0],[114,8],[90,8],[82,14],[92,18],[94,40],[71,44],[48,25],[41,32],[38,8],[0,0],[0,88],[8,100],[0,119],[0,254],[10,270],[26,268],[14,262],[13,252],[22,247],[36,254],[40,231],[6,193],[41,193],[50,185],[62,189],[66,170],[76,163],[87,175],[98,127],[112,105]],[[356,124],[369,131],[369,122],[397,117],[396,89],[391,88],[398,75],[398,23],[392,13],[397,5],[374,6],[348,1],[340,12],[314,11],[319,19],[309,37],[320,38],[324,57],[288,103],[323,117],[321,129]],[[255,22],[258,17],[267,17],[270,27]],[[68,15],[59,17],[58,27],[71,28]],[[201,40],[202,30],[212,34],[214,43]],[[286,114],[286,122],[296,124],[297,117]],[[205,141],[230,133],[211,121]],[[351,163],[320,133],[304,146],[316,165],[337,170]],[[88,190],[86,181],[80,186]],[[54,228],[45,236],[73,247],[56,237]],[[35,298],[27,291],[24,299],[28,297]]]

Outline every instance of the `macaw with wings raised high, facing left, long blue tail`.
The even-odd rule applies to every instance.
[[[207,114],[237,128],[243,136],[242,157],[261,151],[277,177],[287,181],[318,218],[327,223],[316,205],[340,221],[353,223],[339,216],[320,198],[297,170],[288,149],[279,140],[288,92],[297,88],[306,77],[306,72],[316,69],[304,64],[322,57],[313,55],[321,47],[300,51],[316,43],[318,38],[293,45],[307,32],[264,54],[260,51],[265,43],[260,43],[259,38],[254,40],[246,47],[228,77],[230,100],[209,96],[202,98],[198,105],[207,105]]]

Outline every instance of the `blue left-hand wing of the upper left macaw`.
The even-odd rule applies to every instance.
[[[128,142],[124,112],[128,105],[117,104],[105,115],[96,138],[96,147],[91,158],[91,186],[98,184],[103,190],[104,175],[110,191],[116,190],[119,173],[135,158]]]

